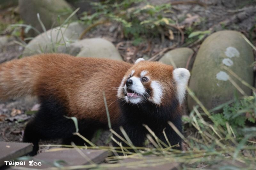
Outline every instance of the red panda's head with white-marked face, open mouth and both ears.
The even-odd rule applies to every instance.
[[[126,72],[117,96],[132,104],[149,101],[161,105],[174,98],[182,103],[189,76],[187,69],[173,70],[170,65],[139,58]]]

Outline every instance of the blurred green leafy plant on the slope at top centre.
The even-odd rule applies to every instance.
[[[157,36],[163,28],[174,23],[170,18],[171,4],[144,6],[136,4],[146,2],[144,0],[124,0],[116,2],[113,0],[91,3],[95,13],[89,15],[84,12],[80,18],[88,25],[97,23],[117,22],[122,25],[124,37],[133,40],[138,45],[148,37]]]

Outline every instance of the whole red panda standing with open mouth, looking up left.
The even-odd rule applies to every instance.
[[[141,58],[131,64],[41,54],[0,65],[0,99],[38,97],[40,109],[26,125],[23,137],[24,142],[34,144],[34,154],[40,139],[62,138],[64,144],[76,141],[84,145],[72,135],[75,125],[64,115],[75,116],[79,132],[88,139],[96,129],[108,129],[103,91],[111,125],[119,135],[119,126],[123,126],[133,145],[142,146],[148,133],[142,124],[146,124],[167,144],[165,129],[169,142],[175,145],[181,138],[167,122],[182,132],[180,105],[189,77],[187,69]]]

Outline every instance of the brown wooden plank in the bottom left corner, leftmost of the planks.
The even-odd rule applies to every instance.
[[[32,149],[31,143],[0,142],[0,166],[5,164],[4,161],[12,161],[30,153]]]

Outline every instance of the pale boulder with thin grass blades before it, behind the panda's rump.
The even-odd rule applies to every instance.
[[[53,53],[58,51],[59,46],[68,47],[70,43],[78,40],[84,30],[84,26],[73,22],[63,27],[56,27],[42,33],[31,40],[23,51],[23,56],[39,53]],[[65,46],[66,44],[66,46]]]

